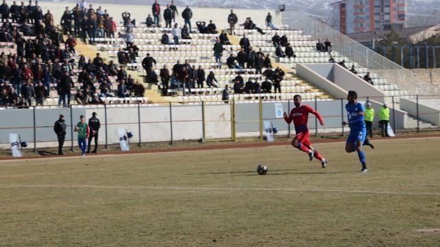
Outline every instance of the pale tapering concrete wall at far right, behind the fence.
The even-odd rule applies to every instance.
[[[411,115],[417,115],[417,101],[415,99],[400,99],[400,108]],[[419,118],[439,126],[440,99],[419,99]]]

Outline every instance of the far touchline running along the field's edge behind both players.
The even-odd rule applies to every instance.
[[[375,141],[399,141],[399,140],[412,140],[412,139],[440,139],[440,137],[412,137],[412,138],[408,138],[408,139],[380,139],[380,140],[375,140]],[[342,139],[341,141],[332,141],[330,143],[315,143],[314,145],[321,145],[321,144],[331,144],[331,143],[344,143],[346,140]],[[278,147],[286,147],[286,146],[290,146],[290,144],[285,144],[285,145],[273,145],[273,146],[267,146],[267,147],[258,147],[258,148],[278,148]],[[80,154],[78,154],[78,156],[54,156],[54,157],[39,157],[39,158],[30,158],[30,159],[17,159],[14,160],[13,158],[9,159],[9,160],[0,160],[0,163],[10,163],[10,162],[28,162],[28,161],[36,161],[36,160],[40,160],[40,159],[45,159],[45,160],[52,160],[52,159],[67,159],[67,158],[99,158],[99,157],[111,157],[111,156],[126,156],[126,155],[146,155],[146,154],[164,154],[164,153],[175,153],[175,152],[208,152],[208,151],[216,151],[216,150],[240,150],[240,149],[250,149],[250,148],[255,148],[255,147],[243,147],[243,148],[221,148],[221,149],[212,149],[212,150],[175,150],[175,151],[164,151],[164,152],[148,152],[148,150],[146,150],[146,152],[139,152],[139,153],[130,153],[130,154],[124,154],[124,152],[120,152],[119,154],[98,154],[98,155],[92,155],[92,156],[81,156]],[[341,151],[342,152],[342,151]]]

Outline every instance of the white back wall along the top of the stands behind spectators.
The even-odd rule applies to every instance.
[[[12,5],[12,1],[6,1],[8,5]],[[78,3],[80,1],[78,0]],[[121,2],[121,5],[118,4],[107,4],[107,3],[94,3],[94,1],[87,1],[89,4],[93,5],[93,8],[96,10],[99,6],[102,7],[103,10],[107,10],[113,18],[117,21],[122,21],[122,12],[128,11],[131,13],[131,18],[136,19],[136,21],[145,21],[146,16],[151,14],[151,5],[124,5]],[[161,18],[163,18],[163,10],[166,8],[166,3],[168,2],[160,2],[161,5]],[[20,4],[17,1],[17,4]],[[25,5],[28,5],[28,1],[25,1]],[[45,2],[39,1],[39,5],[43,9],[43,14],[50,10],[52,14],[54,14],[54,21],[56,24],[59,24],[61,21],[61,16],[63,16],[63,12],[65,7],[68,6],[69,9],[75,7],[76,3],[57,3],[57,2]],[[186,6],[177,6],[177,11],[179,12],[179,22],[184,22],[184,19],[181,18],[181,12],[186,8]],[[190,7],[191,8],[191,7]],[[225,8],[191,8],[193,18],[192,23],[196,21],[206,21],[208,23],[209,20],[212,20],[217,28],[223,29],[225,25],[227,25],[228,14],[230,14],[230,9]],[[239,23],[242,24],[245,22],[246,17],[251,17],[254,23],[256,23],[259,27],[263,27],[265,25],[265,17],[267,12],[272,14],[272,20],[274,24],[281,23],[281,19],[278,18],[276,12],[274,10],[251,10],[251,9],[234,9],[237,17],[239,18]]]

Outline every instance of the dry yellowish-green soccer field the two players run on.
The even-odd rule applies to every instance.
[[[439,246],[439,145],[376,141],[368,174],[342,142],[314,145],[327,169],[288,146],[0,162],[0,245]]]

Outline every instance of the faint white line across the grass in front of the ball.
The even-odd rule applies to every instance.
[[[4,185],[0,189],[43,188],[43,189],[151,189],[177,191],[278,191],[278,192],[318,192],[318,193],[369,193],[380,195],[440,196],[440,193],[410,191],[371,191],[350,189],[314,188],[228,188],[228,187],[162,187],[162,186],[103,186],[103,185]]]

